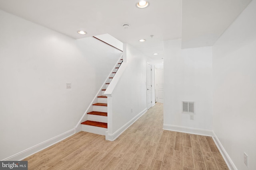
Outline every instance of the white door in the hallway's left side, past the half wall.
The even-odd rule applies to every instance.
[[[147,109],[152,106],[152,66],[147,63]]]

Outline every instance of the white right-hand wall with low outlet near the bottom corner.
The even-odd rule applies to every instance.
[[[256,168],[255,19],[252,0],[213,46],[213,130],[238,170]]]

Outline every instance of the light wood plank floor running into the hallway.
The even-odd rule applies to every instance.
[[[162,125],[157,103],[116,141],[80,132],[25,160],[29,170],[228,170],[211,137]]]

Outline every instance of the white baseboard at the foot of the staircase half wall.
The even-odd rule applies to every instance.
[[[141,111],[138,115],[136,115],[132,120],[128,121],[125,125],[123,125],[120,129],[118,129],[113,134],[108,134],[106,132],[106,140],[108,141],[114,141],[116,138],[118,138],[130,125],[132,125],[136,120],[138,120],[144,113],[146,113],[147,108],[145,108],[143,111]]]

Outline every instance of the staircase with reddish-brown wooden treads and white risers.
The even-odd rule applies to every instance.
[[[108,98],[107,96],[104,96],[104,92],[106,88],[108,88],[108,85],[122,62],[123,59],[121,58],[114,70],[112,70],[112,74],[110,74],[108,81],[105,82],[104,89],[101,90],[101,94],[98,94],[98,103],[92,104],[93,111],[87,113],[88,120],[81,123],[82,131],[96,133],[98,135],[106,135],[106,131],[108,131]]]

